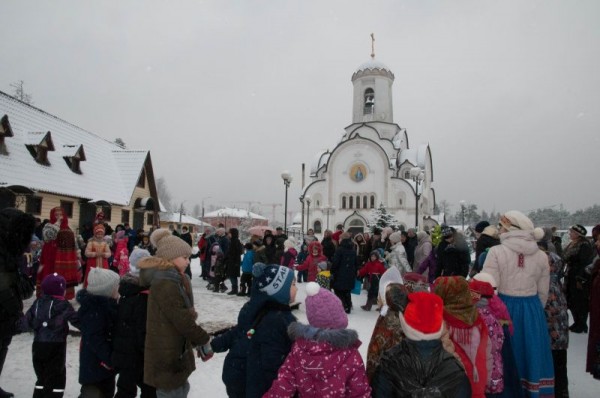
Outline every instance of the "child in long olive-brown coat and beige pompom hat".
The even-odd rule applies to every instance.
[[[196,324],[194,295],[185,269],[192,248],[166,228],[150,237],[156,255],[138,263],[140,278],[153,272],[146,320],[144,383],[160,397],[187,397],[196,369],[193,349],[210,357],[210,336]]]

